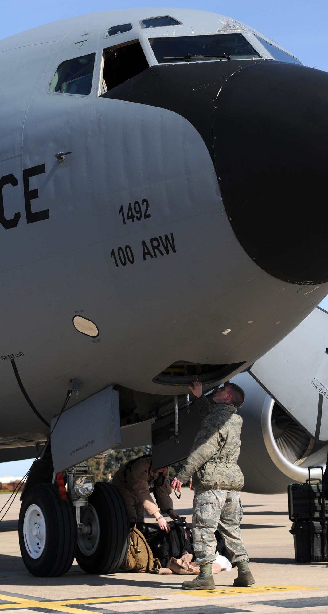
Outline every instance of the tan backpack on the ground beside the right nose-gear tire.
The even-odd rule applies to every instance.
[[[152,556],[144,535],[134,526],[130,529],[128,554],[121,569],[136,573],[158,573],[160,567],[160,562]]]

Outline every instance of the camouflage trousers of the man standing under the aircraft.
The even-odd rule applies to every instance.
[[[197,565],[210,563],[216,558],[216,530],[222,535],[232,563],[249,560],[240,532],[242,517],[238,491],[195,489],[192,535]]]

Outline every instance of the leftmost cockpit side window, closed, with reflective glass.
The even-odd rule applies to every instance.
[[[61,94],[90,94],[94,65],[95,53],[61,62],[49,90]]]

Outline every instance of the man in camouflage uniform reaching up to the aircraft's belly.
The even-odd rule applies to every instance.
[[[192,533],[200,575],[191,582],[184,582],[182,588],[215,588],[211,563],[216,558],[216,530],[222,535],[232,564],[238,567],[234,586],[249,586],[254,584],[254,578],[248,568],[248,554],[240,532],[243,509],[239,490],[244,478],[237,465],[243,420],[236,411],[244,401],[244,392],[236,384],[226,384],[217,389],[211,403],[201,394],[199,382],[194,382],[190,389],[197,397],[195,402],[204,419],[172,487],[179,490],[192,475],[195,489]]]

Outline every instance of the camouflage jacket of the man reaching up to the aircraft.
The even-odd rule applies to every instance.
[[[192,476],[195,488],[240,490],[244,478],[237,461],[243,419],[236,416],[234,405],[210,403],[203,395],[195,403],[204,419],[178,480],[186,482]]]

